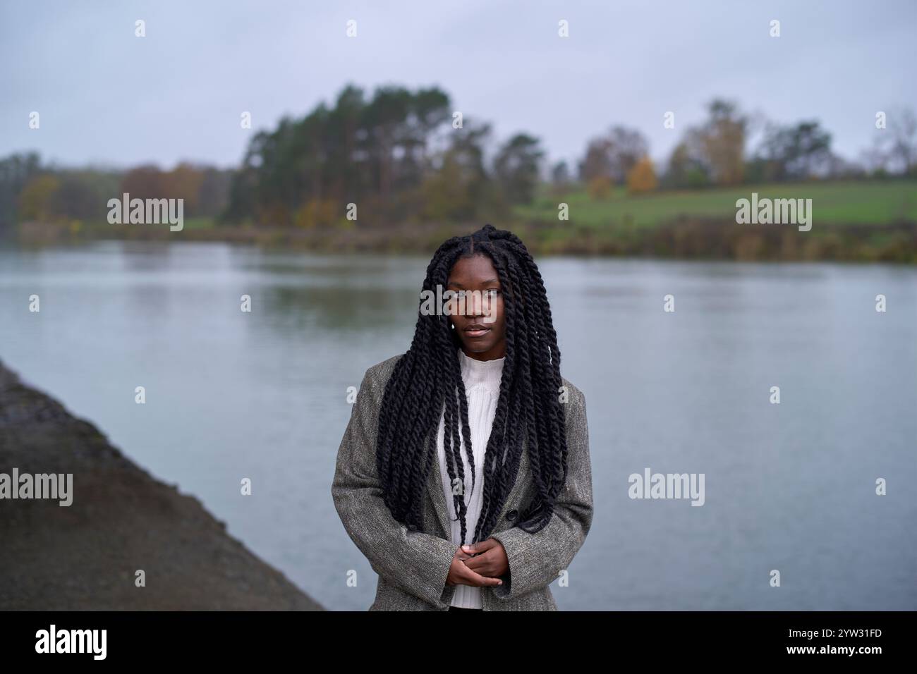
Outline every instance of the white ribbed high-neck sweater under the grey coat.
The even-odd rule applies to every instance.
[[[458,350],[458,360],[461,364],[462,381],[465,382],[465,393],[468,397],[468,424],[471,431],[471,449],[474,453],[474,489],[471,489],[471,469],[465,456],[465,447],[461,447],[461,457],[465,468],[465,484],[471,493],[464,495],[468,504],[468,513],[465,515],[466,533],[465,542],[470,543],[474,537],[475,526],[478,524],[478,515],[481,514],[481,495],[484,488],[483,466],[484,450],[487,440],[491,436],[493,416],[497,411],[497,398],[500,396],[500,379],[503,375],[503,361],[505,359],[475,360]],[[461,428],[458,436],[462,437]],[[446,470],[446,449],[443,445],[443,419],[439,419],[438,431],[439,475],[442,478],[443,490],[446,494],[446,505],[451,520],[452,542],[456,547],[461,545],[461,522],[458,520],[455,505],[452,500],[452,483]],[[452,597],[452,605],[461,608],[481,608],[481,588],[470,585],[456,585]]]

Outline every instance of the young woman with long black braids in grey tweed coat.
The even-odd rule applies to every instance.
[[[411,347],[360,384],[331,494],[379,574],[370,611],[557,610],[548,584],[592,520],[586,403],[512,233],[436,250]]]

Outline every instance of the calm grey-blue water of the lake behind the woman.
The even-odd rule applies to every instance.
[[[375,574],[330,482],[348,386],[407,348],[426,262],[220,244],[3,251],[0,359],[326,607],[365,609]],[[586,395],[596,506],[569,587],[552,586],[561,609],[917,609],[917,271],[541,268],[564,374]],[[647,467],[703,473],[706,503],[629,499]]]

